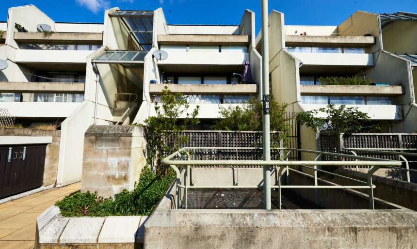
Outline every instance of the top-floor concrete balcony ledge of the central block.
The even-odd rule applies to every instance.
[[[163,45],[249,45],[249,35],[168,34],[158,35]]]

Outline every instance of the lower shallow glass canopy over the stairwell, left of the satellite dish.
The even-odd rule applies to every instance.
[[[105,51],[93,59],[95,63],[143,64],[147,51]]]

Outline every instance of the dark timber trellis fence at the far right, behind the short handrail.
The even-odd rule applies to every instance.
[[[417,133],[352,133],[352,134],[320,134],[321,151],[350,154],[342,148],[417,148]],[[378,157],[398,160],[398,156],[356,152],[358,156]],[[337,160],[336,156],[322,156],[322,160]]]

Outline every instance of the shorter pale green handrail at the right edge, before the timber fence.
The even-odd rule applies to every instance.
[[[398,156],[400,159],[404,160],[405,162],[405,169],[401,167],[391,167],[385,166],[384,168],[388,169],[396,169],[399,171],[405,171],[407,182],[411,182],[410,179],[410,171],[417,172],[417,170],[412,170],[409,167],[408,160],[404,156],[417,156],[417,153],[407,153],[407,152],[396,152],[396,151],[417,151],[417,149],[401,149],[401,148],[342,148],[342,150],[350,151],[353,155],[356,155],[355,152],[368,152],[368,153],[375,153],[375,154],[385,154],[385,155],[393,155]],[[393,151],[387,151],[393,150]],[[394,151],[396,150],[396,151]],[[400,180],[402,180],[401,172],[400,172]]]

